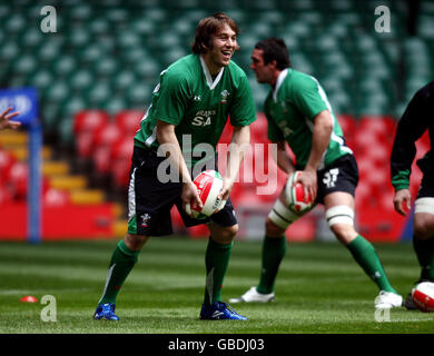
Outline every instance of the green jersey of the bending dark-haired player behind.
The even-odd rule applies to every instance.
[[[323,110],[328,110],[333,117],[333,132],[318,169],[344,155],[353,154],[345,146],[341,126],[332,111],[327,96],[314,77],[292,68],[283,70],[276,87],[265,100],[264,109],[268,120],[268,138],[274,142],[282,140],[288,142],[298,169],[303,169],[307,164],[312,149],[314,118]]]

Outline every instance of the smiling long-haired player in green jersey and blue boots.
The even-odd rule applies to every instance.
[[[174,205],[187,227],[208,222],[210,230],[205,254],[206,288],[200,318],[246,319],[223,303],[220,296],[233,239],[238,231],[229,194],[250,141],[249,125],[256,119],[247,76],[231,61],[234,52],[239,49],[237,34],[236,22],[225,13],[200,20],[193,53],[160,73],[151,106],[134,140],[128,233],[112,254],[106,287],[93,315],[96,319],[119,319],[115,314],[118,291],[149,237],[172,234],[170,209]],[[233,145],[219,196],[227,202],[209,219],[197,220],[185,212],[188,204],[201,206],[190,169],[204,161],[210,161],[216,168],[216,145],[228,116],[234,127]],[[197,155],[195,148],[204,144],[208,144],[208,151],[199,150],[203,155]],[[183,150],[185,146],[189,149]],[[168,158],[157,154],[162,147],[169,148]],[[161,172],[159,168],[166,159],[170,160],[170,169],[175,169],[179,181],[165,181],[166,169]]]

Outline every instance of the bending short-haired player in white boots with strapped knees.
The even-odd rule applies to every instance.
[[[288,177],[295,170],[302,170],[295,182],[302,182],[305,195],[309,194],[316,204],[325,206],[333,234],[377,285],[379,295],[375,306],[401,306],[403,298],[389,284],[376,250],[354,228],[357,164],[345,145],[339,123],[319,82],[290,68],[289,55],[282,39],[259,41],[253,50],[250,68],[259,83],[272,86],[264,111],[268,138],[277,144],[278,167]],[[296,165],[286,152],[286,144],[296,157]],[[299,217],[286,206],[284,188],[266,219],[259,284],[229,303],[274,300],[275,279],[286,253],[285,231]]]

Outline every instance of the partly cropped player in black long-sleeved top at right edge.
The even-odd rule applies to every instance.
[[[393,204],[403,216],[411,208],[412,195],[408,190],[412,164],[416,156],[418,138],[428,130],[431,149],[417,166],[423,178],[414,208],[413,247],[421,266],[421,281],[434,281],[434,81],[421,88],[410,101],[401,118],[391,156],[391,177],[395,188]],[[416,284],[417,284],[416,283]],[[407,309],[415,309],[412,294],[405,303]]]

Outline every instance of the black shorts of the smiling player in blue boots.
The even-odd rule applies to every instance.
[[[230,199],[227,200],[224,209],[210,218],[189,217],[184,211],[180,199],[183,184],[161,182],[157,177],[158,167],[165,159],[151,150],[134,148],[128,188],[128,234],[144,236],[172,234],[170,209],[174,205],[178,208],[186,227],[210,220],[224,227],[237,224]]]

